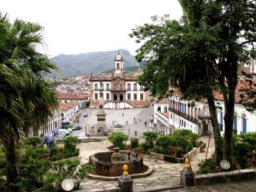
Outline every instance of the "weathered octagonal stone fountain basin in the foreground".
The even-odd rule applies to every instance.
[[[89,157],[89,163],[93,164],[94,174],[108,177],[120,176],[124,172],[123,166],[127,164],[128,173],[140,173],[143,171],[143,159],[128,150],[120,150],[122,161],[111,162],[113,151],[98,152]]]

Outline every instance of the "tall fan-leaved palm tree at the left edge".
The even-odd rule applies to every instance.
[[[7,180],[18,176],[15,145],[29,127],[39,127],[58,108],[56,93],[43,79],[50,69],[57,69],[37,51],[43,44],[39,24],[0,14],[0,143],[8,159]]]

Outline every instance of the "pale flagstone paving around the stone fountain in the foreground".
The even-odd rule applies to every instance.
[[[200,140],[205,141],[206,143],[208,143],[208,139],[208,137],[200,138]],[[108,151],[108,148],[106,147],[110,145],[111,143],[109,141],[102,141],[97,143],[81,143],[79,154],[79,156],[81,156],[81,163],[88,163],[88,157],[95,152]],[[211,157],[213,152],[214,139],[211,138],[207,157]],[[205,159],[205,155],[206,152],[204,151],[191,158],[191,166],[194,172],[198,171],[198,163],[200,163],[202,159]],[[167,161],[149,159],[147,157],[144,157],[144,163],[153,166],[154,172],[148,177],[134,179],[134,190],[140,191],[141,189],[161,188],[179,184],[180,170],[184,168],[184,164],[169,163]],[[118,186],[118,181],[104,181],[86,178],[81,186],[83,191],[95,191],[99,189],[115,188]]]

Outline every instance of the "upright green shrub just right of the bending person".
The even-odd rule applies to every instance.
[[[76,136],[67,136],[64,138],[64,156],[66,158],[76,157],[79,154],[79,148],[76,148],[79,139]]]

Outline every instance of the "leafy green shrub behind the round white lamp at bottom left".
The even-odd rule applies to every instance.
[[[44,184],[48,191],[61,188],[61,182],[64,179],[72,179],[74,182],[74,190],[79,189],[81,182],[86,175],[92,171],[92,164],[81,164],[80,161],[63,159],[52,164],[51,171],[47,172]]]

